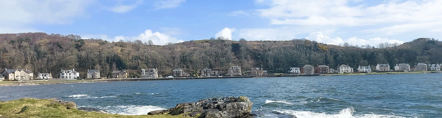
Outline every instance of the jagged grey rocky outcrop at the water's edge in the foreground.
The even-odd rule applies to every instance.
[[[196,103],[180,103],[167,110],[151,111],[149,115],[170,114],[198,118],[243,118],[250,114],[253,103],[245,96],[202,99]]]

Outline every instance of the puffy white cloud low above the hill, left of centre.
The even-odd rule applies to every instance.
[[[101,38],[103,40],[107,40],[109,42],[118,42],[119,40],[141,40],[142,42],[147,42],[152,40],[152,42],[156,45],[164,45],[168,42],[184,42],[183,40],[179,40],[175,37],[171,37],[168,34],[160,33],[160,32],[152,32],[152,30],[145,30],[144,33],[141,33],[138,36],[116,36],[115,38],[108,38],[107,35],[104,34],[96,34],[96,35],[83,35],[82,38]]]

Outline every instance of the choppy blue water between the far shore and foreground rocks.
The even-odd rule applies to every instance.
[[[118,114],[147,114],[222,96],[246,95],[252,110],[298,118],[442,118],[442,74],[127,81],[0,87],[0,100],[70,100]]]

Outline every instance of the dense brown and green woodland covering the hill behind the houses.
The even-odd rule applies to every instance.
[[[139,75],[142,68],[157,68],[159,74],[169,74],[176,68],[196,74],[201,68],[225,72],[232,65],[243,69],[261,67],[270,72],[286,72],[290,67],[304,65],[358,65],[378,63],[442,62],[442,42],[418,38],[404,44],[381,43],[378,46],[327,45],[306,39],[291,41],[240,41],[210,38],[210,40],[169,43],[159,46],[152,42],[107,42],[82,39],[78,35],[46,33],[0,34],[0,67],[27,68],[34,73],[72,69],[84,75],[88,69],[100,70],[102,76],[113,70],[128,69]],[[36,74],[34,74],[36,75]]]

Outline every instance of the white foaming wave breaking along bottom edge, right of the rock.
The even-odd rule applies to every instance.
[[[352,107],[343,109],[339,111],[338,114],[326,114],[326,113],[295,111],[295,110],[275,110],[275,111],[284,114],[292,114],[295,115],[297,118],[405,118],[402,116],[382,115],[382,114],[353,115],[355,111]]]

